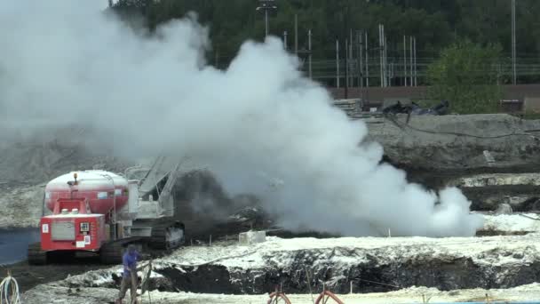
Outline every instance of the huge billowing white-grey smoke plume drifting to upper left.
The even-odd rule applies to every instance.
[[[220,71],[204,63],[208,29],[194,17],[149,37],[91,3],[0,4],[4,134],[78,125],[119,156],[192,156],[286,228],[471,236],[481,226],[456,188],[428,192],[378,164],[366,125],[331,108],[277,38],[246,42]]]

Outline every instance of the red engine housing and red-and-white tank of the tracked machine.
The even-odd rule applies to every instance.
[[[97,252],[108,240],[109,212],[128,202],[128,181],[112,172],[72,172],[51,180],[40,221],[41,250]],[[112,213],[111,213],[112,214]]]

